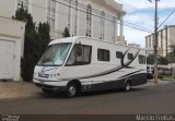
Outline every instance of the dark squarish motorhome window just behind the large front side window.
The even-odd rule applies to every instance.
[[[98,61],[109,61],[109,50],[98,49],[97,50],[97,60]]]

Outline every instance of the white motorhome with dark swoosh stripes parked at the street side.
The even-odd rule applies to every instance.
[[[147,83],[145,50],[89,37],[52,40],[33,82],[44,92],[80,92],[125,88]]]

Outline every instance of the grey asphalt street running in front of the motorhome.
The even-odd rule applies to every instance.
[[[175,113],[175,83],[137,87],[131,92],[108,90],[77,98],[45,95],[0,100],[1,114],[138,114]]]

